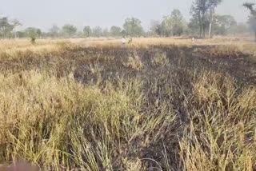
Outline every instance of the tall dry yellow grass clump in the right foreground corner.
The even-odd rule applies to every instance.
[[[250,91],[250,94],[248,92]],[[235,88],[222,74],[203,74],[194,84],[194,116],[179,141],[186,170],[254,170],[255,87]]]

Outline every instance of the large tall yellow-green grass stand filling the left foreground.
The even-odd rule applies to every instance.
[[[143,109],[141,82],[82,85],[38,71],[1,75],[0,161],[41,169],[113,170],[140,163],[174,121],[165,105]]]

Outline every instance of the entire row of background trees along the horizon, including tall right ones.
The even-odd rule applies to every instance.
[[[66,24],[62,28],[54,25],[48,32],[42,32],[39,28],[28,27],[22,31],[16,31],[22,24],[18,20],[0,18],[0,38],[88,38],[88,37],[140,37],[158,36],[172,37],[181,35],[193,35],[198,38],[211,38],[213,35],[242,34],[250,30],[255,33],[256,41],[256,10],[254,3],[245,3],[250,10],[248,23],[238,23],[231,15],[220,15],[215,9],[222,0],[194,0],[190,10],[190,21],[186,22],[178,9],[171,11],[170,15],[162,18],[162,21],[152,21],[150,30],[145,31],[142,21],[138,18],[126,18],[122,27],[111,26],[110,29],[96,26],[85,26],[83,30]]]

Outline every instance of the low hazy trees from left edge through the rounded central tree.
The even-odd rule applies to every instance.
[[[85,26],[82,31],[71,24],[66,24],[62,28],[54,25],[48,32],[42,32],[41,29],[35,27],[27,27],[25,30],[15,30],[17,26],[22,26],[18,20],[10,21],[9,18],[0,18],[0,38],[82,38],[82,37],[138,37],[145,35],[142,22],[138,18],[127,18],[123,24],[123,28],[119,26],[111,26],[102,28],[95,26]]]

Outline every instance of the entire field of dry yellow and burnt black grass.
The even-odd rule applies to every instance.
[[[256,170],[248,38],[0,40],[0,170]]]

